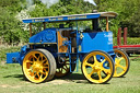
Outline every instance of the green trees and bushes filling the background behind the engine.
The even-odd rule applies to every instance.
[[[28,3],[28,1],[32,1],[32,3]],[[118,16],[109,22],[114,36],[117,35],[120,26],[128,27],[129,37],[140,36],[139,0],[94,1],[97,4],[96,7],[83,0],[59,0],[52,5],[43,3],[42,0],[0,0],[0,38],[8,44],[27,42],[28,26],[22,23],[22,19],[90,13],[92,10],[118,13]],[[48,27],[57,25],[47,24]],[[39,31],[38,26],[40,24],[34,24],[34,30]]]

